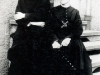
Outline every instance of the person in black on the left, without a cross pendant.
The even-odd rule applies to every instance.
[[[47,69],[49,59],[46,61],[45,57],[49,56],[49,52],[48,50],[44,52],[46,48],[42,44],[42,40],[46,38],[42,35],[49,10],[49,0],[18,1],[14,16],[18,28],[12,35],[13,45],[8,50],[8,59],[11,61],[8,75],[44,75],[49,73]],[[47,47],[47,45],[45,46]]]

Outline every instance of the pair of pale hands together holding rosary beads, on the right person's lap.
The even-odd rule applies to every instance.
[[[62,46],[68,46],[68,44],[70,43],[70,38],[65,38],[61,44],[59,44],[57,41],[54,41],[52,44],[53,49],[59,49]]]

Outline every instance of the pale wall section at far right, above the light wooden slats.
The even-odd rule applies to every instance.
[[[100,30],[100,0],[92,0],[91,5],[91,29]]]

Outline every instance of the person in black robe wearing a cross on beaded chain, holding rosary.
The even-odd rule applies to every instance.
[[[91,60],[80,36],[83,32],[79,11],[70,0],[60,0],[51,9],[51,30],[58,38],[52,44],[55,75],[92,75]]]

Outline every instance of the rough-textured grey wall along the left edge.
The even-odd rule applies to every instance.
[[[9,20],[13,17],[17,0],[0,0],[0,75],[8,71]]]

